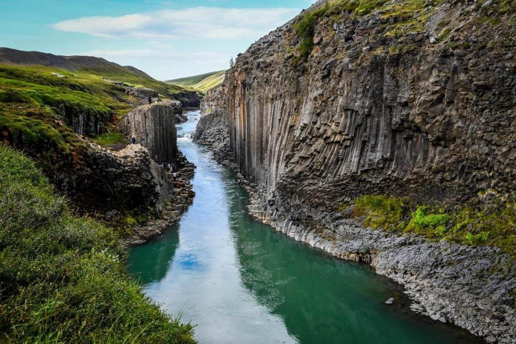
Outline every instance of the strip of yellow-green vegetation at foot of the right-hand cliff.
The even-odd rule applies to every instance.
[[[362,218],[373,229],[424,235],[466,245],[492,245],[516,254],[516,202],[499,199],[486,206],[479,198],[468,204],[417,205],[411,199],[364,195],[338,210]]]

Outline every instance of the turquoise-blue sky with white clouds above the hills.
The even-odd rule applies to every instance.
[[[315,0],[0,0],[0,46],[103,57],[158,80],[229,60]]]

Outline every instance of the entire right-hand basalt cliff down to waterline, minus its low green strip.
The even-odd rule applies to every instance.
[[[362,250],[406,286],[415,310],[488,341],[515,342],[516,280],[499,249],[378,233],[335,213],[366,194],[422,204],[486,191],[510,197],[512,12],[492,1],[391,1],[364,12],[324,3],[239,55],[219,89],[225,96],[204,100],[204,113],[228,115],[227,155],[257,191],[251,211],[335,256],[357,259]],[[219,132],[217,116],[205,121],[199,136],[209,136],[206,127]]]

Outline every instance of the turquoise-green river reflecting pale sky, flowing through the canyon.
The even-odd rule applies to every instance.
[[[407,310],[399,288],[368,267],[333,259],[246,214],[247,195],[208,148],[193,143],[199,111],[178,125],[197,165],[196,197],[178,224],[132,248],[128,271],[201,343],[474,343]],[[395,306],[385,300],[394,297]]]

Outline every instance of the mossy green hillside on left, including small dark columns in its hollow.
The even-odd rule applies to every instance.
[[[117,121],[138,102],[124,86],[144,86],[169,97],[184,91],[121,67],[70,72],[0,64],[0,141],[27,152],[45,172],[62,160],[59,156],[84,146],[74,130],[92,138],[105,133],[109,139],[101,136],[99,143],[114,143],[122,138]]]

